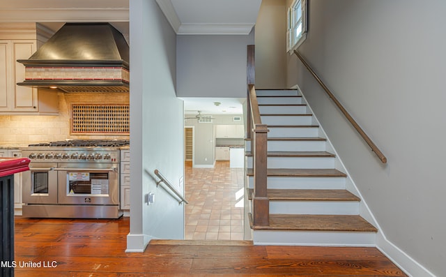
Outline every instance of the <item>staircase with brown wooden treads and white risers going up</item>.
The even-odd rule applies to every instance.
[[[297,90],[256,90],[261,122],[268,125],[269,225],[249,222],[254,244],[375,246],[376,228],[348,191],[346,170]],[[247,193],[254,194],[251,140],[246,142]]]

